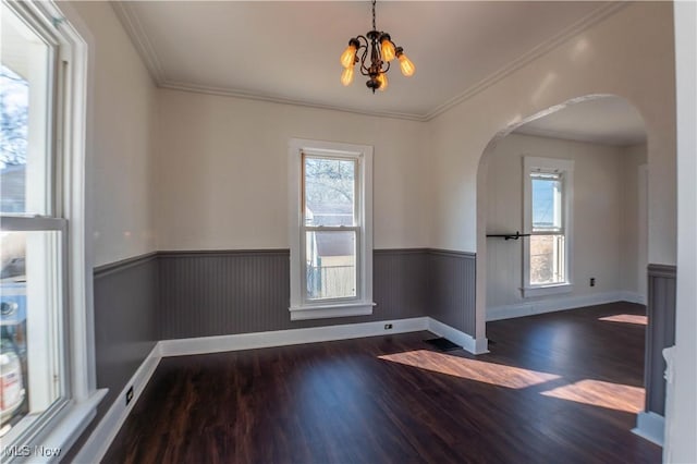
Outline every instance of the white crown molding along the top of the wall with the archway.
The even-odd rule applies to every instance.
[[[458,105],[458,103],[461,103],[461,102],[474,97],[475,95],[486,90],[487,88],[491,87],[492,85],[494,85],[499,81],[503,80],[504,77],[508,77],[509,75],[511,75],[515,71],[519,70],[521,68],[525,66],[526,64],[529,64],[530,62],[535,61],[536,59],[540,58],[541,56],[554,50],[555,48],[558,48],[562,44],[564,44],[566,40],[571,39],[572,37],[578,35],[578,34],[580,34],[582,32],[588,29],[589,27],[594,26],[595,24],[601,22],[606,17],[616,13],[617,11],[620,11],[621,9],[625,8],[628,4],[629,4],[629,2],[621,1],[621,2],[609,2],[609,3],[606,3],[606,4],[601,5],[601,7],[598,7],[597,9],[591,11],[586,16],[584,16],[580,20],[578,20],[575,23],[573,23],[571,26],[566,27],[565,29],[561,30],[559,34],[550,37],[549,39],[540,42],[539,45],[537,45],[536,47],[531,48],[526,53],[521,54],[517,59],[513,60],[512,62],[510,62],[505,66],[501,68],[499,71],[497,71],[497,72],[494,72],[492,74],[489,74],[487,77],[482,78],[477,84],[470,86],[469,88],[467,88],[462,94],[460,94],[460,95],[451,98],[450,100],[445,101],[444,103],[436,107],[433,110],[431,110],[428,113],[426,113],[424,115],[424,119],[426,121],[430,121],[431,119],[438,117],[439,114],[444,113],[445,111],[448,111],[452,107],[454,107],[454,106],[456,106],[456,105]]]

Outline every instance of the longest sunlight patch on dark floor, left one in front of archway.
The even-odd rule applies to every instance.
[[[428,350],[416,350],[378,357],[433,373],[512,389],[527,388],[560,378],[560,376],[554,374],[538,373],[536,370],[502,364],[467,359],[465,357],[451,356]]]

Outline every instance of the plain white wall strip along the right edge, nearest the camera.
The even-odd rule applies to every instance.
[[[675,4],[677,77],[677,300],[674,377],[668,383],[665,445],[669,463],[697,462],[697,3]]]

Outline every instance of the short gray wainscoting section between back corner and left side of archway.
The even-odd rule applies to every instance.
[[[476,255],[430,249],[428,254],[428,316],[475,335]]]

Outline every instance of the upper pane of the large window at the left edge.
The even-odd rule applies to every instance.
[[[0,211],[50,213],[49,47],[2,7]]]

